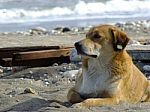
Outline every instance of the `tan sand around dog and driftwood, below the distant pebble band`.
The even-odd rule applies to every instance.
[[[86,31],[85,31],[86,32]],[[138,32],[139,33],[139,32]],[[150,39],[149,33],[129,32],[132,39]],[[134,37],[135,36],[135,37]],[[1,33],[0,48],[16,46],[73,46],[74,42],[85,37],[85,33],[64,33],[49,35],[25,35],[19,33]],[[134,38],[133,38],[134,37]],[[144,38],[144,39],[145,39]],[[67,102],[67,92],[75,83],[61,73],[78,70],[77,64],[64,64],[39,68],[26,68],[15,73],[1,73],[0,76],[0,112],[149,112],[150,103],[120,104],[116,106],[74,108]],[[24,92],[25,89],[31,89]]]

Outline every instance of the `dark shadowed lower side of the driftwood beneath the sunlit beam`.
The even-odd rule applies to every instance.
[[[0,65],[3,67],[12,67],[12,66],[46,67],[51,66],[54,63],[58,64],[70,63],[69,56],[34,59],[34,60],[12,60],[12,58],[3,58],[0,60]]]

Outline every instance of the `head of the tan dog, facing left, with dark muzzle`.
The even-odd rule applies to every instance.
[[[120,52],[124,50],[129,38],[118,28],[111,25],[93,27],[86,34],[86,38],[76,42],[78,54],[97,58],[101,53]]]

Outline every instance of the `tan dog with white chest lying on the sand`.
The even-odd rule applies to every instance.
[[[111,25],[93,27],[76,42],[82,56],[82,73],[67,95],[77,107],[150,101],[150,82],[124,49],[125,32]]]

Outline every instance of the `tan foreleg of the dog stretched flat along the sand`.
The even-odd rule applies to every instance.
[[[104,105],[114,105],[118,104],[119,99],[114,97],[114,98],[89,98],[84,100],[83,102],[76,103],[74,104],[75,107],[77,108],[89,108],[93,106],[104,106]]]

